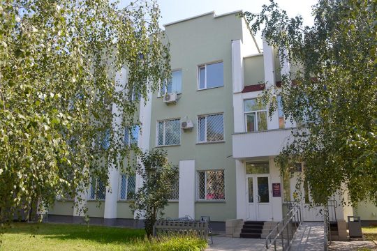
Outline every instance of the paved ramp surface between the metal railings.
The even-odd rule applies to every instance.
[[[297,229],[290,251],[319,251],[325,248],[323,222],[302,222]]]

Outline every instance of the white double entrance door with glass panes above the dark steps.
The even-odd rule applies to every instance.
[[[248,220],[271,220],[269,175],[246,175],[246,185]]]

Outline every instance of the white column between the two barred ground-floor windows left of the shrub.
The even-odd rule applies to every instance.
[[[121,71],[115,75],[115,91],[117,93],[124,90],[126,86],[127,71],[121,68]],[[124,136],[123,128],[121,127],[121,107],[112,104],[112,129],[114,130],[114,140],[120,140]],[[109,167],[109,185],[106,188],[105,212],[103,218],[116,219],[117,218],[117,200],[118,200],[118,181],[119,181],[119,167],[117,164],[111,162]]]

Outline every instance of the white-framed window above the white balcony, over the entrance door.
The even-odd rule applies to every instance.
[[[267,109],[256,99],[244,100],[246,132],[267,130]]]

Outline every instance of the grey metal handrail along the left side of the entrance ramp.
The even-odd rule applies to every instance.
[[[281,245],[283,247],[283,250],[284,250],[284,230],[286,230],[287,232],[287,237],[288,237],[288,246],[287,248],[290,246],[290,241],[293,240],[293,236],[295,235],[295,231],[297,229],[297,226],[295,231],[292,231],[291,232],[291,236],[289,235],[289,229],[288,229],[288,223],[292,223],[293,222],[293,218],[295,219],[295,222],[300,222],[299,223],[299,226],[301,225],[302,223],[302,218],[301,218],[301,208],[300,206],[298,205],[293,205],[291,203],[288,203],[288,207],[291,207],[290,211],[288,211],[288,213],[286,213],[285,217],[286,220],[281,220],[275,227],[274,229],[272,229],[269,234],[266,236],[266,249],[268,250],[270,247],[271,247],[271,244],[274,243],[274,250],[276,250],[276,240],[277,238],[281,237]],[[280,231],[279,231],[279,227],[283,225],[283,227],[280,228]],[[293,227],[293,225],[292,225]],[[293,230],[293,229],[291,229]],[[276,233],[276,236],[272,239],[272,234]],[[291,238],[290,238],[291,237]]]

